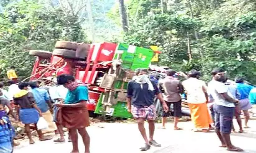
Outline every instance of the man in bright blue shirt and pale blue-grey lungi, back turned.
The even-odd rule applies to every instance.
[[[244,128],[249,128],[249,126],[247,125],[250,119],[248,109],[252,108],[252,105],[249,101],[249,93],[254,88],[254,86],[244,84],[244,78],[240,76],[235,77],[235,82],[236,82],[237,90],[241,94],[238,106],[244,112],[244,116],[245,116]]]

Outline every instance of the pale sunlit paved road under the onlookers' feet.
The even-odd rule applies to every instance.
[[[136,124],[124,123],[101,123],[104,128],[97,124],[87,130],[91,136],[91,153],[140,153],[139,148],[143,140],[137,130]],[[256,120],[250,120],[249,125],[253,128],[246,129],[245,133],[231,135],[234,145],[245,150],[245,153],[255,153]],[[147,126],[147,125],[146,125]],[[156,128],[160,125],[157,124]],[[220,142],[215,133],[192,132],[191,122],[182,122],[180,127],[184,130],[175,131],[173,124],[167,124],[167,129],[156,129],[155,139],[162,144],[162,147],[152,147],[145,153],[227,153],[225,148],[219,148]],[[235,125],[237,126],[237,125]],[[79,139],[80,152],[84,147]],[[28,145],[27,140],[22,141],[20,146],[15,148],[14,153],[38,152],[62,152],[69,153],[72,149],[71,143],[54,144],[52,141],[38,142]]]

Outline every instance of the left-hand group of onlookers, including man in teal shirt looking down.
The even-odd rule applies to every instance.
[[[16,136],[9,115],[25,125],[29,144],[34,144],[31,128],[38,133],[40,141],[51,140],[44,133],[55,132],[60,138],[55,143],[65,142],[63,127],[68,129],[68,142],[72,142],[72,153],[78,153],[77,131],[83,139],[85,153],[90,152],[90,137],[86,127],[90,125],[86,109],[88,88],[77,82],[73,76],[60,75],[53,79],[54,86],[49,91],[39,87],[38,81],[18,82],[14,68],[7,72],[8,91],[0,82],[0,152],[12,153],[13,147],[19,145],[13,138]],[[8,108],[8,110],[6,109]],[[16,114],[13,110],[16,110]],[[48,123],[47,129],[38,129],[40,117]]]

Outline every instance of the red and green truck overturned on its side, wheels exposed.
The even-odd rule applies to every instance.
[[[159,51],[124,43],[56,43],[53,52],[30,50],[36,56],[30,80],[70,74],[88,84],[87,108],[96,114],[130,118],[125,95],[137,68],[149,68]],[[49,80],[49,81],[48,81]]]

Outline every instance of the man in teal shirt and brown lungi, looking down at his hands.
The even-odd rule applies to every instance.
[[[88,88],[84,84],[79,84],[71,75],[57,76],[59,85],[63,84],[68,89],[64,103],[56,103],[60,109],[57,112],[57,122],[69,129],[73,150],[72,153],[78,153],[78,136],[81,135],[85,153],[90,153],[90,137],[86,127],[90,126],[89,114],[86,108],[88,101]]]

